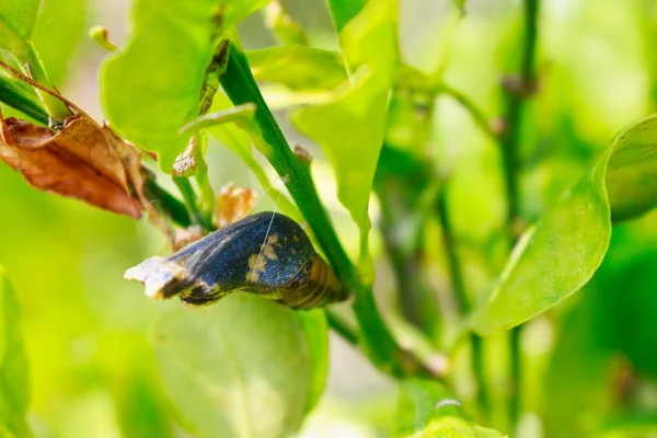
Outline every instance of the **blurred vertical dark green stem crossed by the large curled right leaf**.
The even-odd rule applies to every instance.
[[[507,84],[505,129],[499,137],[502,157],[505,170],[506,197],[508,201],[507,229],[509,234],[509,246],[516,243],[517,222],[519,218],[519,152],[518,143],[520,137],[522,111],[527,97],[535,88],[534,58],[538,38],[539,0],[523,1],[525,31],[522,38],[522,57],[520,60],[520,72],[514,87]],[[521,326],[511,330],[510,333],[510,379],[511,393],[509,395],[509,416],[511,427],[517,424],[520,415],[520,383],[522,378],[521,350],[520,350]]]

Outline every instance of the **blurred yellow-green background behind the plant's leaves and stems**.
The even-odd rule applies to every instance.
[[[308,31],[311,46],[337,48],[323,1],[284,3]],[[500,113],[499,81],[517,64],[520,4],[468,1],[468,14],[451,36],[450,4],[401,0],[404,58],[429,70],[443,56],[446,81],[495,117]],[[127,0],[42,1],[36,48],[53,82],[97,119],[96,70],[103,53],[87,31],[104,25],[122,44],[129,7]],[[274,44],[260,14],[240,30],[246,48]],[[623,126],[657,108],[655,2],[543,1],[539,71],[540,90],[528,106],[521,142],[527,218],[537,217],[590,166]],[[288,127],[285,114],[279,115]],[[291,128],[287,134],[319,157],[314,173],[320,192],[344,242],[356,242],[357,231],[335,199],[321,152]],[[483,291],[505,262],[492,243],[499,239],[505,215],[497,148],[447,97],[438,101],[433,145],[437,165],[453,178],[450,214],[468,285]],[[208,163],[216,189],[233,181],[262,194],[241,161],[218,145],[210,148]],[[164,253],[165,243],[146,221],[37,192],[5,165],[0,165],[0,265],[23,304],[31,422],[37,436],[184,436],[171,418],[147,342],[148,328],[165,304],[146,299],[139,285],[123,279],[127,267]],[[273,205],[263,201],[257,208],[266,207]],[[377,208],[372,214],[376,222]],[[529,324],[522,436],[657,434],[656,219],[653,212],[614,227],[593,280]],[[377,244],[373,249],[378,278],[388,278],[384,256]],[[446,281],[440,272],[437,277],[438,284]],[[391,301],[389,283],[377,283],[383,307]],[[505,391],[498,376],[502,357],[499,361],[489,367],[493,392]],[[378,436],[394,408],[393,385],[334,337],[331,364],[327,395],[304,435]],[[468,382],[461,393],[469,393]]]

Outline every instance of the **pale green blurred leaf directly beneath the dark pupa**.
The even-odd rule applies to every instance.
[[[311,359],[293,311],[247,293],[155,323],[162,382],[198,437],[287,437],[303,418]]]

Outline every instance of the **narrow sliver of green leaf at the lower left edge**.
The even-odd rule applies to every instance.
[[[30,436],[30,372],[21,334],[21,304],[0,267],[0,431]],[[2,435],[2,434],[0,434]]]

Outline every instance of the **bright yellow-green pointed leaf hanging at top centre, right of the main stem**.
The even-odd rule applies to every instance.
[[[396,67],[394,0],[369,2],[344,26],[341,47],[358,68],[335,91],[332,102],[306,107],[292,115],[297,128],[316,141],[336,173],[337,197],[360,229],[361,261],[368,257],[368,204],[383,143],[388,94]]]

